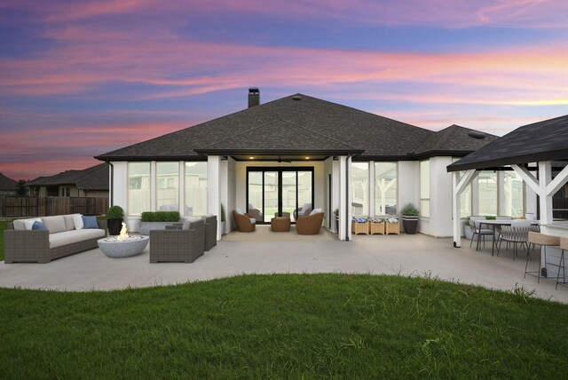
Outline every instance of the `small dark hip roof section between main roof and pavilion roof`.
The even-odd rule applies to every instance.
[[[454,124],[426,139],[415,154],[417,156],[444,152],[469,154],[496,139],[499,138],[489,133],[481,133]]]

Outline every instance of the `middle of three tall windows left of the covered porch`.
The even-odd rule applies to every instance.
[[[179,210],[179,162],[156,162],[156,210]]]

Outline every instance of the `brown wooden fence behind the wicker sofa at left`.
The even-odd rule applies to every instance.
[[[108,198],[0,195],[0,218],[103,215],[106,210]]]

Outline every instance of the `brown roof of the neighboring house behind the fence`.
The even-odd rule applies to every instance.
[[[108,190],[108,165],[99,163],[85,170],[66,170],[51,177],[38,177],[26,186],[75,185],[80,190]]]

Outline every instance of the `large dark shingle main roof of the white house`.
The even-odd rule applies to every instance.
[[[96,158],[102,161],[192,160],[205,159],[204,154],[309,151],[360,154],[358,159],[414,159],[414,153],[424,141],[436,136],[443,134],[296,94],[100,154]],[[456,149],[456,155],[474,150],[465,149],[464,152],[460,141],[467,143],[468,139],[452,136],[448,138],[452,144],[441,145],[440,148]]]

